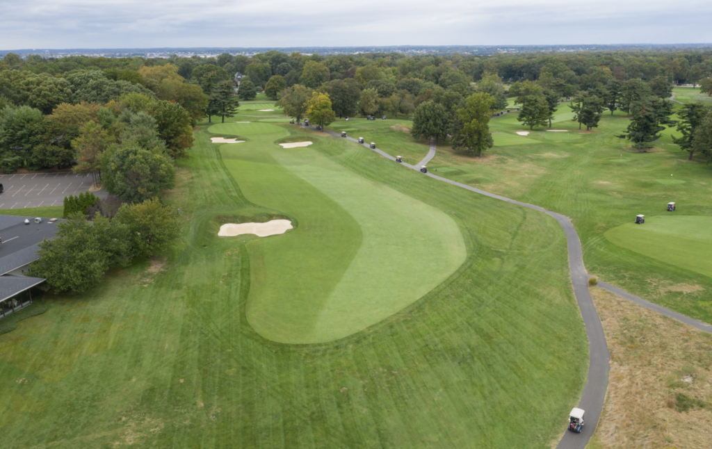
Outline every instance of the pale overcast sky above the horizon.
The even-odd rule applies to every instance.
[[[0,0],[0,50],[710,43],[710,0]]]

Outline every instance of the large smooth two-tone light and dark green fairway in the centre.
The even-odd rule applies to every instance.
[[[412,304],[464,262],[463,238],[446,213],[316,149],[281,149],[272,143],[286,134],[281,127],[251,125],[259,124],[210,131],[250,138],[221,146],[226,167],[250,201],[299,223],[248,244],[247,317],[263,337],[299,344],[347,337]],[[355,157],[362,151],[345,140],[315,146],[325,144]]]

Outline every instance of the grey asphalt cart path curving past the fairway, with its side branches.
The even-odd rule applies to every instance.
[[[310,127],[313,129],[313,127]],[[340,137],[333,131],[324,131],[327,134],[331,134],[336,137]],[[346,137],[347,139],[357,142],[357,139],[352,137]],[[362,144],[364,147],[370,149],[368,144]],[[390,154],[383,152],[380,149],[372,149],[372,151],[377,152],[381,156],[395,161],[395,158]],[[419,162],[416,166],[402,163],[405,167],[409,169],[419,170],[421,165],[427,164],[435,156],[435,139],[430,141],[430,151],[427,156]],[[601,416],[603,410],[603,403],[606,397],[606,389],[608,386],[608,371],[609,371],[609,361],[610,354],[608,352],[608,345],[606,344],[606,336],[603,332],[603,326],[601,324],[601,319],[598,316],[596,307],[593,304],[593,299],[591,293],[588,290],[588,278],[589,275],[586,271],[586,267],[583,263],[583,253],[581,250],[581,242],[578,237],[574,226],[571,224],[569,218],[561,213],[556,213],[549,211],[543,207],[535,206],[534,204],[523,203],[522,201],[516,201],[513,199],[506,198],[505,196],[500,196],[496,194],[491,194],[488,191],[481,189],[476,189],[473,186],[468,186],[466,184],[461,184],[457,181],[452,181],[451,179],[446,179],[441,176],[437,176],[428,172],[425,176],[430,176],[433,179],[438,179],[439,181],[452,184],[454,186],[461,187],[462,189],[467,189],[473,191],[476,194],[481,194],[489,196],[490,198],[498,199],[501,201],[506,201],[511,204],[518,204],[519,206],[528,207],[534,209],[535,211],[540,211],[546,213],[548,216],[554,218],[557,223],[564,229],[566,235],[566,242],[568,245],[568,255],[569,255],[569,269],[571,271],[571,283],[574,288],[574,295],[576,296],[576,301],[581,310],[581,316],[583,317],[583,322],[586,327],[586,335],[588,337],[588,349],[590,354],[590,361],[588,365],[588,376],[586,381],[586,386],[584,387],[583,394],[581,395],[581,400],[579,401],[578,407],[586,411],[586,425],[584,426],[581,433],[573,433],[565,431],[563,437],[557,445],[557,449],[584,449],[588,444],[590,438],[592,437],[594,430],[598,424],[598,420]],[[631,295],[624,290],[621,290],[613,285],[607,284],[606,282],[599,281],[598,285],[604,290],[614,293],[615,295],[622,296],[627,300],[631,300],[638,305],[642,305],[650,310],[670,317],[672,319],[677,319],[678,321],[689,324],[697,329],[704,332],[712,333],[712,326],[710,324],[698,321],[696,319],[686,317],[672,310],[666,309],[659,305],[648,302],[640,297]],[[567,419],[562,417],[562,428],[565,428]]]

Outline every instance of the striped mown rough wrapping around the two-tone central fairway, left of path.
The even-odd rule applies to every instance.
[[[450,214],[468,258],[365,332],[277,344],[246,321],[253,262],[215,218],[283,211],[249,204],[207,137],[179,162],[184,236],[162,270],[140,262],[46,297],[48,312],[0,336],[3,448],[545,448],[562,432],[587,346],[553,220],[365,149],[321,149]]]

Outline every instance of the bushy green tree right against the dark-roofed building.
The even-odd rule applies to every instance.
[[[54,238],[38,244],[39,259],[30,265],[33,275],[46,278],[56,293],[88,290],[111,265],[127,262],[127,232],[120,223],[101,215],[90,222],[76,213],[56,226]]]

